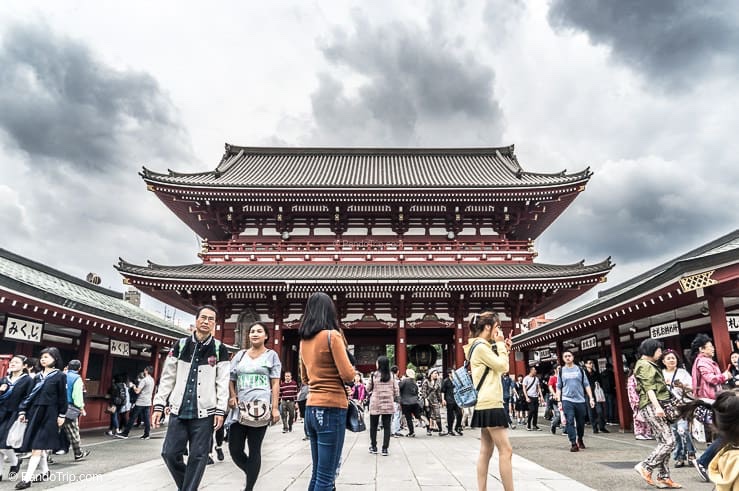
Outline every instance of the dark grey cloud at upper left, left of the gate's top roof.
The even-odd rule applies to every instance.
[[[135,147],[146,149],[146,160],[165,148],[176,157],[188,151],[170,146],[186,140],[185,132],[156,80],[106,66],[45,26],[8,29],[0,67],[0,129],[37,168],[59,159],[80,171],[109,172],[138,167],[127,160]]]

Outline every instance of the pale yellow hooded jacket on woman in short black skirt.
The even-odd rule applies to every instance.
[[[503,384],[501,383],[501,375],[508,371],[508,350],[503,342],[496,343],[498,354],[496,355],[492,349],[492,343],[483,338],[470,338],[464,346],[464,355],[469,355],[472,344],[476,341],[481,344],[472,352],[470,367],[472,370],[472,381],[477,387],[480,383],[482,374],[485,373],[485,367],[490,367],[485,381],[477,393],[477,404],[475,409],[495,409],[503,408]]]

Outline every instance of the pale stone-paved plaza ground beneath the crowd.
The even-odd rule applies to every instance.
[[[611,427],[614,428],[615,427]],[[513,444],[513,474],[517,490],[643,490],[633,465],[654,447],[653,441],[636,441],[631,434],[592,435],[586,430],[587,449],[570,453],[567,439],[545,431],[510,430]],[[140,433],[139,433],[140,434]],[[390,456],[371,455],[369,433],[347,433],[344,464],[337,489],[351,490],[475,490],[475,461],[479,432],[467,430],[463,437],[428,437],[417,432],[416,438],[393,438]],[[163,431],[142,441],[131,433],[129,440],[110,439],[101,431],[83,434],[83,443],[92,450],[86,462],[71,462],[69,456],[57,456],[51,466],[54,482],[34,484],[32,489],[54,487],[59,490],[172,490],[173,481],[159,457]],[[227,444],[226,444],[227,445]],[[225,448],[225,446],[224,446]],[[302,440],[302,424],[292,433],[282,433],[281,426],[270,428],[263,447],[262,471],[257,489],[305,490],[310,478],[311,460],[308,442]],[[85,474],[97,474],[95,477]],[[88,478],[69,483],[69,476]],[[502,489],[497,460],[490,466],[488,489]],[[685,489],[709,491],[692,468],[675,469],[675,481]],[[241,471],[226,460],[208,466],[201,489],[243,489]]]

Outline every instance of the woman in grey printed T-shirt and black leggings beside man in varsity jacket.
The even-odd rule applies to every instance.
[[[252,491],[262,466],[262,442],[270,423],[280,420],[278,409],[282,363],[276,352],[267,348],[269,331],[261,322],[249,326],[249,349],[239,351],[231,361],[229,407],[245,408],[248,403],[270,411],[259,421],[235,421],[228,430],[228,450],[234,464],[246,475],[245,491]],[[269,418],[269,419],[267,419]],[[248,446],[248,455],[244,448]]]

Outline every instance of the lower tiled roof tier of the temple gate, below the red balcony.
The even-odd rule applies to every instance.
[[[224,265],[192,264],[186,266],[137,266],[123,260],[117,266],[124,276],[179,282],[435,282],[435,281],[563,281],[605,274],[612,267],[610,259],[592,265],[551,264],[272,264]]]

